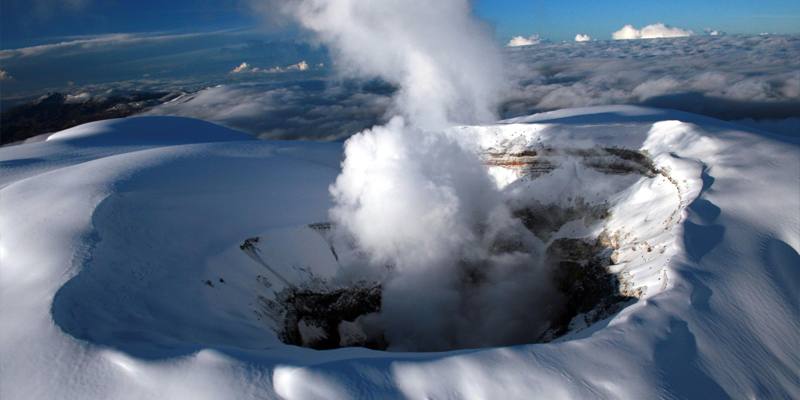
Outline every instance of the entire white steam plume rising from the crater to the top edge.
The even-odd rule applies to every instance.
[[[392,348],[535,339],[545,325],[530,293],[551,292],[537,240],[511,217],[477,146],[448,129],[493,120],[501,100],[500,52],[471,3],[301,0],[284,10],[339,71],[399,88],[391,121],[346,142],[330,212],[369,268],[391,266],[379,318]],[[492,252],[504,235],[525,251]]]

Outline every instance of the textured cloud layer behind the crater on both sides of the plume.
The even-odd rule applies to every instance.
[[[540,43],[507,50],[507,57],[513,84],[505,117],[604,104],[651,105],[728,120],[800,117],[800,72],[793,62],[800,59],[797,36]],[[391,85],[324,77],[228,83],[154,112],[204,118],[262,137],[330,140],[387,121],[393,95]]]

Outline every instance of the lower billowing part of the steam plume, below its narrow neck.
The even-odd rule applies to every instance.
[[[541,241],[466,139],[395,117],[347,142],[331,216],[371,268],[392,267],[378,324],[393,350],[534,341],[551,311],[541,300],[558,303]],[[520,249],[494,251],[504,241]]]

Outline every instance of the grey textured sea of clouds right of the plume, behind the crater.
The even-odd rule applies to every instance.
[[[800,36],[543,43],[509,52],[504,115],[641,104],[723,119],[800,116]]]

